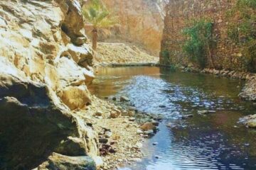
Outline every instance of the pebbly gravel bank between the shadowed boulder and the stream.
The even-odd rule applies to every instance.
[[[141,162],[143,143],[157,132],[159,115],[139,113],[129,98],[110,96],[105,100],[95,96],[92,106],[76,114],[84,116],[99,135],[102,169],[118,169],[122,164]]]

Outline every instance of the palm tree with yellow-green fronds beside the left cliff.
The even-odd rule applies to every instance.
[[[97,34],[99,28],[110,28],[117,24],[117,18],[107,10],[100,0],[90,0],[83,6],[82,14],[87,23],[92,25],[92,49],[97,48]]]

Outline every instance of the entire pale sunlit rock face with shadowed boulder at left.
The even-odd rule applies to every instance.
[[[86,40],[76,0],[0,0],[0,169],[95,169]]]

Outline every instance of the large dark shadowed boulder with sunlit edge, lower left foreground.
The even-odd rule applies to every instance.
[[[0,169],[31,169],[51,152],[99,154],[95,132],[58,107],[47,86],[4,73],[0,79]]]

